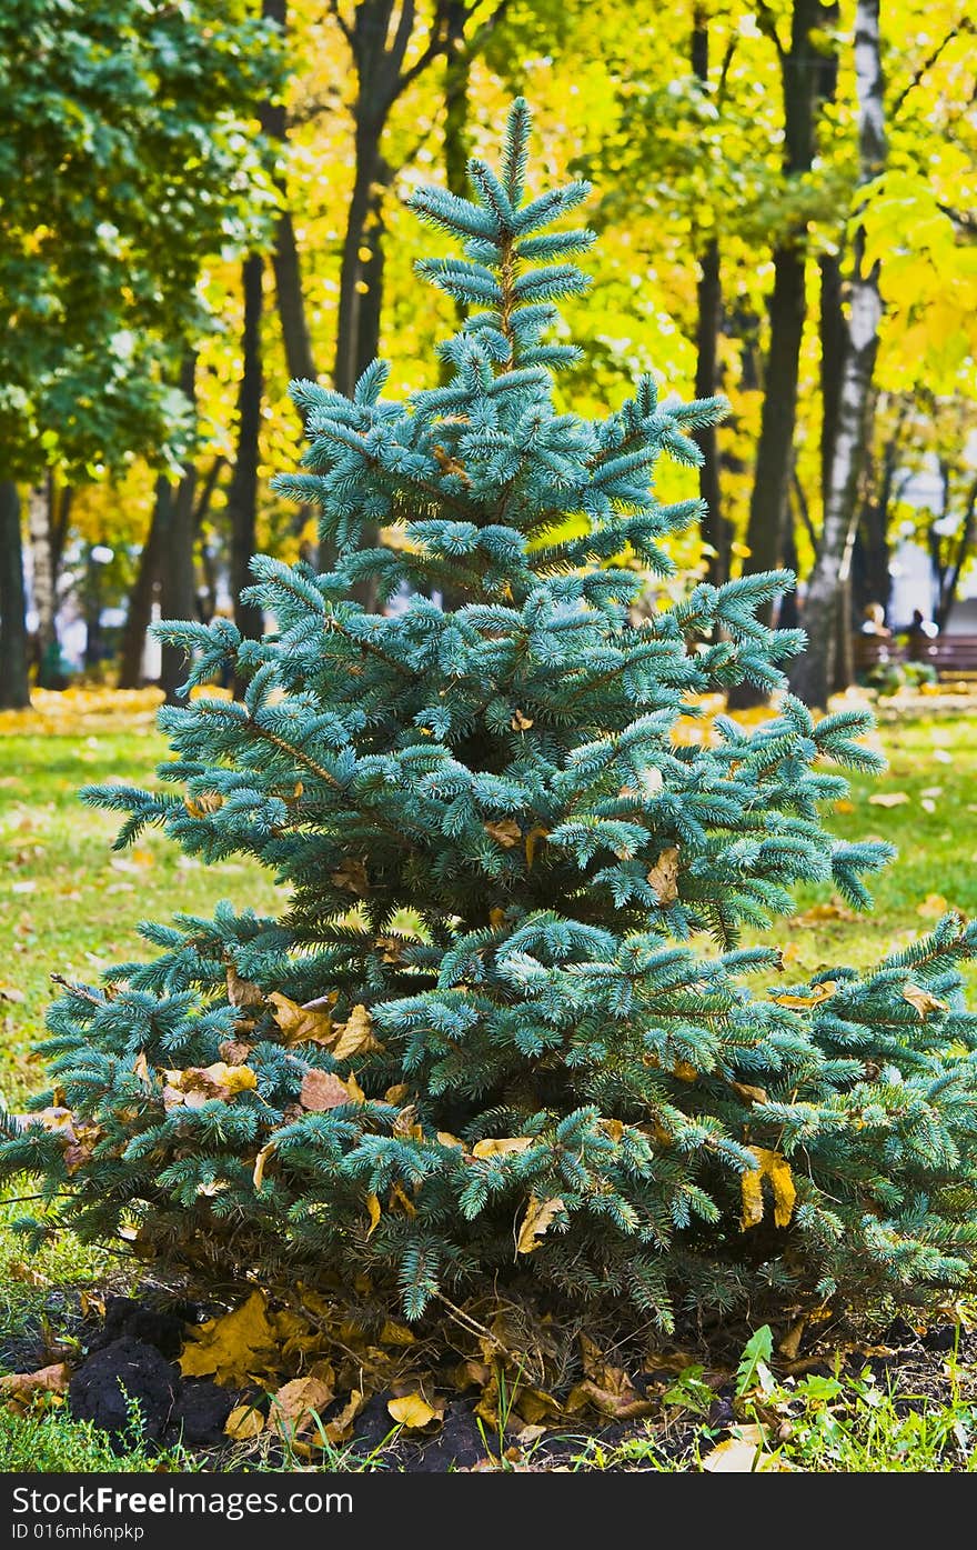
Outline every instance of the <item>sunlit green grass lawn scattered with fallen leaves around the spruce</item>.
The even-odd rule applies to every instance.
[[[927,930],[946,907],[977,914],[977,715],[906,716],[884,724],[879,741],[889,772],[881,778],[856,777],[850,801],[836,804],[828,823],[842,839],[890,840],[898,846],[898,860],[876,880],[878,908],[867,918],[830,908],[819,913],[818,905],[830,905],[827,887],[799,891],[797,914],[765,938],[787,947],[788,980],[805,980],[827,964],[867,966],[893,944]],[[167,919],[173,911],[209,914],[221,897],[269,913],[282,905],[282,890],[255,865],[204,866],[155,831],[135,849],[111,851],[116,818],[84,808],[77,787],[110,778],[152,784],[164,756],[146,696],[125,713],[107,702],[74,710],[68,704],[63,711],[40,716],[0,716],[0,932],[6,944],[0,963],[0,1093],[9,1107],[42,1085],[31,1045],[42,1034],[54,994],[51,973],[98,980],[108,964],[141,955],[141,919]],[[873,803],[879,795],[896,800]],[[971,986],[977,1000],[975,976]],[[56,1324],[57,1300],[70,1288],[98,1286],[111,1263],[99,1252],[65,1243],[26,1265],[20,1242],[9,1232],[17,1211],[12,1204],[0,1211],[0,1342],[14,1339],[25,1322]],[[811,1404],[811,1415],[825,1412],[824,1397]],[[977,1407],[969,1393],[960,1404],[966,1420],[954,1435],[960,1440],[966,1434],[968,1442],[960,1442],[954,1466],[974,1468],[969,1437],[977,1435]],[[948,1466],[907,1462],[923,1460],[935,1435],[932,1428],[923,1437],[917,1421],[893,1412],[887,1442],[887,1434],[878,1435],[878,1401],[869,1410],[875,1420],[866,1412],[862,1429],[862,1423],[852,1421],[847,1431],[842,1428],[844,1437],[827,1423],[818,1423],[816,1437],[808,1428],[807,1451],[797,1443],[793,1466]],[[944,1406],[940,1415],[946,1435],[960,1417],[954,1406]],[[70,1462],[59,1465],[65,1459]],[[152,1466],[152,1460],[141,1459],[135,1448],[124,1466]],[[63,1414],[56,1420],[11,1420],[0,1410],[0,1469],[26,1468],[31,1460],[42,1460],[33,1465],[39,1469],[98,1469],[105,1468],[105,1448],[101,1434],[85,1432]],[[588,1466],[605,1468],[608,1462],[627,1465],[624,1459],[595,1457]]]

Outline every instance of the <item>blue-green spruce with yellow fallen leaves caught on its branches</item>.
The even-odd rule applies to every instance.
[[[658,504],[655,463],[697,463],[723,405],[643,377],[601,420],[557,412],[576,350],[545,336],[585,285],[564,217],[588,191],[528,197],[528,133],[517,101],[475,200],[412,198],[463,246],[420,265],[469,308],[447,383],[398,401],[376,363],[353,398],[293,386],[311,445],[277,488],[319,505],[336,569],[259,555],[262,640],[166,625],[204,687],[161,711],[177,790],[85,794],[125,814],[119,845],[159,825],[206,863],[255,857],[288,908],[147,924],[155,956],[68,987],[0,1167],[42,1178],[36,1235],[135,1229],[197,1277],[359,1276],[410,1318],[506,1280],[666,1328],[677,1305],[923,1299],[977,1237],[977,932],[948,914],[788,992],[776,950],[739,946],[797,882],[870,904],[889,848],[819,817],[831,766],[879,767],[870,718],[783,694],[677,736],[697,696],[783,690],[802,637],[757,609],[791,578],[635,609],[701,516]],[[364,581],[409,600],[367,612]],[[206,693],[228,668],[240,702]]]

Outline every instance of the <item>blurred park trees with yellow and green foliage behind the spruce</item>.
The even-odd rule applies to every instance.
[[[172,694],[159,609],[262,628],[251,550],[316,558],[268,488],[300,450],[286,383],[348,391],[376,349],[427,381],[451,302],[417,308],[403,198],[463,191],[516,91],[550,164],[595,181],[567,398],[667,360],[669,389],[731,400],[663,491],[711,507],[681,567],[799,570],[779,612],[811,629],[814,702],[869,603],[907,623],[914,566],[912,606],[960,617],[966,0],[9,0],[0,84],[0,704],[82,665]]]

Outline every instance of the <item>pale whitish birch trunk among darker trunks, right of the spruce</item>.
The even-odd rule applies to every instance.
[[[879,0],[858,0],[855,19],[855,74],[858,87],[859,188],[886,164],[883,73],[879,60]],[[825,705],[844,674],[838,673],[838,608],[852,572],[858,498],[869,445],[872,378],[878,353],[883,304],[878,264],[864,270],[864,234],[853,245],[852,298],[845,364],[838,405],[838,434],[831,451],[831,479],[824,512],[818,563],[804,606],[808,649],[794,663],[791,688],[810,705]]]

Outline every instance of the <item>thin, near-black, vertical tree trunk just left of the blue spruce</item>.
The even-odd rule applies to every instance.
[[[252,253],[242,267],[245,290],[243,372],[237,395],[237,457],[228,491],[231,519],[231,591],[234,622],[242,636],[259,639],[263,629],[262,611],[242,601],[243,587],[251,584],[249,561],[255,549],[259,434],[262,428],[262,294],[263,259]]]

